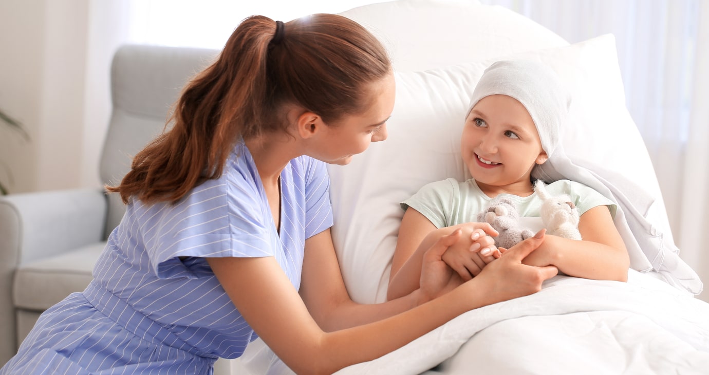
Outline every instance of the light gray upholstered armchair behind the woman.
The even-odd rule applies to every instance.
[[[187,79],[218,51],[126,45],[113,57],[113,113],[101,152],[101,181],[116,183],[130,158],[162,132]],[[125,207],[102,189],[0,196],[0,365],[12,357],[39,315],[83,291],[108,233]]]

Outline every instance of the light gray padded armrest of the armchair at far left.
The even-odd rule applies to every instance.
[[[22,264],[99,242],[106,206],[100,189],[0,196],[0,259]]]

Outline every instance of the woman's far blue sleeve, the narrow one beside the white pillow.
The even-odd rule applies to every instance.
[[[306,239],[333,226],[330,203],[330,176],[325,163],[308,158],[305,162]]]

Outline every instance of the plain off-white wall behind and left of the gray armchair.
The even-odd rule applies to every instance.
[[[11,192],[100,186],[111,56],[128,35],[121,0],[0,2],[0,181]],[[1,124],[0,124],[1,125]]]

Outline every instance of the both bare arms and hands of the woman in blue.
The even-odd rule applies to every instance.
[[[286,365],[298,374],[332,374],[381,357],[467,310],[534,293],[556,274],[554,267],[521,263],[543,242],[542,235],[513,247],[471,281],[407,310],[454,276],[441,257],[459,236],[442,237],[424,254],[422,289],[376,305],[350,301],[329,230],[306,240],[302,298],[274,257],[208,262],[245,320]],[[323,332],[320,327],[350,328]]]

